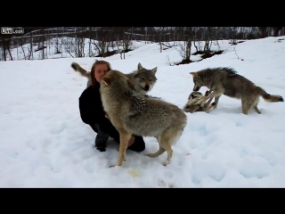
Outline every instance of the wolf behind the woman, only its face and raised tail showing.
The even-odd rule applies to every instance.
[[[71,67],[73,70],[78,71],[81,76],[88,78],[87,87],[92,85],[90,72],[87,72],[86,70],[81,68],[81,66],[77,64],[77,62],[72,62]],[[137,66],[137,70],[134,70],[133,72],[125,75],[127,78],[129,78],[131,82],[133,82],[132,86],[135,91],[142,95],[146,95],[151,91],[152,87],[158,80],[158,78],[156,78],[155,76],[157,70],[158,67],[155,67],[151,70],[147,70],[142,67],[141,63],[139,63]]]

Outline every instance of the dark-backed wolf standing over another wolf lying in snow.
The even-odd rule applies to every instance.
[[[232,68],[208,68],[196,72],[190,72],[193,77],[193,91],[199,91],[201,86],[207,86],[213,93],[201,99],[198,103],[202,106],[212,97],[215,97],[215,107],[221,95],[241,100],[242,113],[248,114],[248,110],[253,108],[257,113],[261,113],[257,108],[259,97],[262,96],[266,102],[283,102],[281,95],[269,95],[260,86],[256,86],[248,78],[237,74]]]

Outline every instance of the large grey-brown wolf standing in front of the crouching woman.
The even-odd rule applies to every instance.
[[[183,133],[186,114],[175,104],[141,95],[130,89],[134,83],[118,70],[110,70],[100,86],[102,105],[120,136],[117,165],[125,160],[126,147],[132,134],[154,136],[159,141],[159,151],[147,156],[154,158],[167,151],[167,165],[172,157],[171,146]]]

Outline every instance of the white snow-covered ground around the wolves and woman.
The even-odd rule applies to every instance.
[[[231,66],[268,93],[285,96],[285,40],[280,38],[285,37],[249,40],[235,51],[219,41],[224,53],[180,66],[167,64],[167,59],[181,60],[175,47],[159,53],[159,45],[144,42],[135,43],[126,60],[119,54],[105,60],[125,73],[138,62],[147,69],[157,66],[150,95],[181,108],[193,88],[189,72],[207,67]],[[167,167],[162,165],[166,152],[156,159],[144,156],[159,148],[154,138],[144,137],[145,151],[127,151],[123,166],[110,169],[118,144],[110,142],[107,152],[94,149],[96,134],[78,111],[87,80],[70,67],[77,62],[90,70],[94,60],[0,62],[1,187],[285,187],[285,103],[262,98],[260,115],[253,110],[243,115],[240,100],[226,96],[209,114],[187,113],[187,127]]]

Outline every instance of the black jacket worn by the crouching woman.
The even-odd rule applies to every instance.
[[[79,111],[82,121],[93,128],[94,132],[97,132],[95,124],[98,124],[102,132],[109,134],[116,141],[119,140],[117,129],[111,124],[110,119],[105,118],[99,83],[96,83],[95,87],[87,87],[80,95]]]

